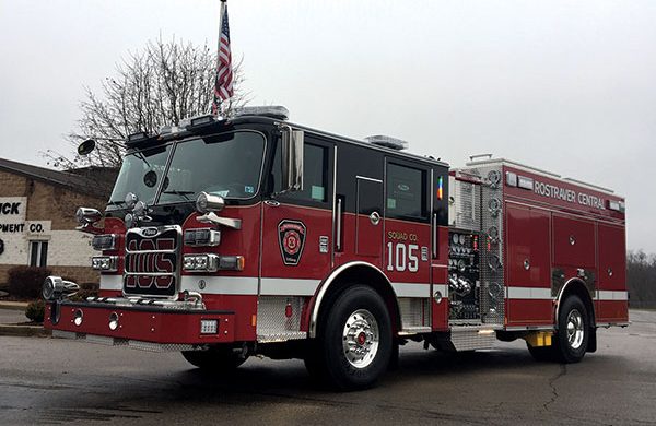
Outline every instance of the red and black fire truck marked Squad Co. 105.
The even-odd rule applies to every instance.
[[[492,156],[465,167],[288,120],[282,107],[134,133],[93,234],[99,294],[49,276],[57,338],[177,351],[226,371],[302,358],[342,389],[373,386],[399,345],[527,342],[579,362],[628,324],[624,199]],[[85,154],[93,149],[80,146]]]

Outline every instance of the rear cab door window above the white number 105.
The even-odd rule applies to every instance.
[[[386,216],[424,220],[426,208],[426,173],[398,164],[387,164],[385,193]]]

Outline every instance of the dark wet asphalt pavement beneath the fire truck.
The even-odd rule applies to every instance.
[[[631,320],[566,366],[534,362],[523,341],[455,355],[409,344],[378,387],[348,393],[314,384],[300,360],[211,376],[177,353],[0,336],[0,423],[656,424],[656,312]]]

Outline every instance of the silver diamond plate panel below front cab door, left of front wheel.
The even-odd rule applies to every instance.
[[[301,315],[305,297],[260,296],[257,306],[257,341],[280,342],[305,339]],[[291,309],[291,316],[286,313]]]

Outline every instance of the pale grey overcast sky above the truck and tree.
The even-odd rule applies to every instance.
[[[0,0],[1,157],[68,152],[83,86],[162,35],[214,45],[219,0]],[[454,166],[493,153],[626,197],[656,252],[656,1],[229,0],[251,104]]]

